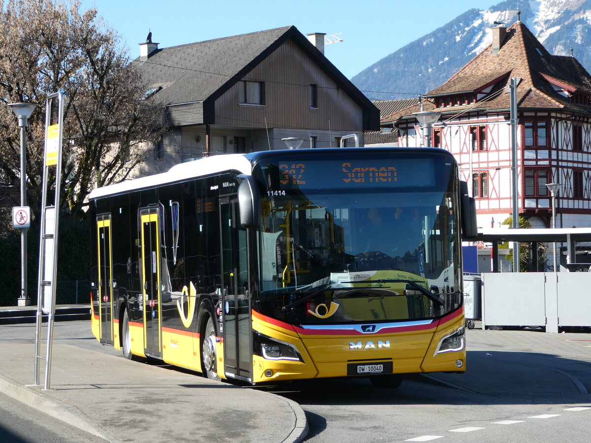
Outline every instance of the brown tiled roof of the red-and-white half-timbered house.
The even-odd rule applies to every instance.
[[[564,109],[591,114],[591,106],[571,103],[560,95],[546,77],[558,80],[578,92],[591,93],[591,76],[574,57],[553,56],[544,48],[522,22],[515,22],[506,30],[505,40],[497,53],[492,44],[470,60],[446,83],[427,93],[425,97],[452,95],[478,91],[494,84],[488,97],[476,105],[434,108],[427,100],[424,110],[436,112],[461,112],[467,108],[485,108],[488,111],[509,109],[509,94],[503,93],[511,77],[521,77],[517,87],[519,108]],[[498,92],[498,94],[495,94]],[[402,116],[418,112],[419,106],[411,106],[382,118],[383,123],[395,122]]]

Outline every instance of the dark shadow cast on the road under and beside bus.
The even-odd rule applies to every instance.
[[[368,379],[258,387],[300,405],[504,405],[591,402],[591,363],[543,353],[469,351],[465,374],[410,374],[398,389]]]

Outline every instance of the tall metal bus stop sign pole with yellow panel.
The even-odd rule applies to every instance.
[[[57,98],[57,123],[51,125],[51,101]],[[35,356],[35,385],[39,384],[39,360],[45,360],[44,389],[49,389],[51,377],[51,353],[53,350],[53,325],[56,313],[56,276],[57,276],[57,236],[59,232],[59,208],[61,185],[61,144],[63,136],[63,102],[61,92],[56,92],[46,100],[46,136],[43,164],[43,195],[41,197],[41,232],[39,245],[39,273],[37,284],[37,343]],[[54,203],[47,204],[49,167],[56,166],[56,184]],[[47,314],[47,354],[41,356],[42,315]]]

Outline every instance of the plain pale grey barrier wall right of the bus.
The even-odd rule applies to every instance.
[[[591,273],[482,274],[484,326],[591,326]]]

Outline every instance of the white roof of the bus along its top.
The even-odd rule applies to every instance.
[[[186,181],[194,177],[202,177],[204,175],[216,174],[216,172],[223,171],[239,171],[241,174],[252,173],[252,167],[258,161],[269,157],[280,157],[282,155],[294,155],[296,152],[305,154],[328,154],[339,157],[340,154],[350,152],[353,150],[363,150],[365,152],[430,152],[431,154],[444,154],[452,157],[452,154],[445,149],[440,148],[398,148],[397,146],[381,146],[368,148],[316,148],[316,149],[284,149],[278,151],[257,151],[249,154],[216,154],[212,157],[205,157],[199,160],[189,161],[174,165],[167,172],[161,174],[147,175],[146,177],[135,178],[134,180],[126,180],[121,183],[103,186],[93,190],[90,195],[90,200],[96,198],[113,196],[116,194],[125,194],[131,191],[150,189],[158,185],[168,183],[178,183]]]

